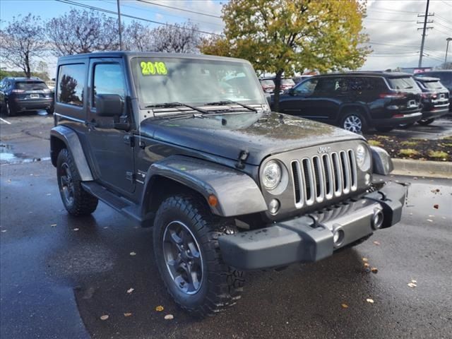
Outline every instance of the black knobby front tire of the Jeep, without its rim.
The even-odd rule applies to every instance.
[[[165,261],[163,237],[167,225],[175,221],[183,222],[189,228],[203,258],[202,283],[194,295],[188,295],[179,289]],[[237,230],[230,221],[212,215],[205,203],[195,196],[184,194],[169,197],[157,210],[153,244],[160,277],[179,307],[196,317],[212,316],[232,306],[240,298],[244,273],[222,261],[218,245],[218,237],[234,232]]]

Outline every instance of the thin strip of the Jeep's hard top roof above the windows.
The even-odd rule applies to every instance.
[[[217,57],[214,55],[206,54],[187,54],[187,53],[164,53],[164,52],[130,52],[130,51],[112,51],[112,52],[93,52],[83,54],[73,54],[65,57],[59,57],[58,62],[70,61],[73,59],[83,58],[126,58],[131,59],[134,57],[148,57],[148,58],[178,58],[178,59],[203,59],[203,60],[223,60],[223,61],[237,61],[246,62],[244,59],[229,58],[229,57]]]

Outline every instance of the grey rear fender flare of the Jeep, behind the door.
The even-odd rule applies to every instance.
[[[78,170],[78,174],[83,182],[93,181],[93,174],[91,173],[91,169],[88,165],[88,161],[86,161],[85,153],[83,153],[83,148],[80,142],[80,139],[77,136],[77,133],[66,126],[55,126],[50,130],[50,153],[54,153],[54,143],[52,143],[52,138],[57,138],[64,142],[66,148],[71,153],[74,162],[76,163],[76,167]]]

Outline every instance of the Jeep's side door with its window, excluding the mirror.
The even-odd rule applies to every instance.
[[[125,105],[127,90],[123,62],[119,58],[91,59],[89,72],[86,135],[91,161],[102,184],[123,194],[130,194],[135,188],[131,134],[114,128],[114,121],[119,117],[100,117],[95,107],[96,95],[117,94],[124,102],[123,116],[132,114]]]

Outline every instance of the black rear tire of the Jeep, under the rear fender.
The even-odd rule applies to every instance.
[[[73,189],[73,200],[69,202],[64,194],[64,189],[61,183],[61,176],[63,176],[67,169],[69,175],[71,175],[71,187]],[[76,164],[73,161],[71,153],[67,148],[60,150],[57,157],[57,178],[59,192],[64,207],[71,215],[89,215],[97,208],[99,202],[95,196],[92,196],[81,186],[81,179],[78,175]]]

